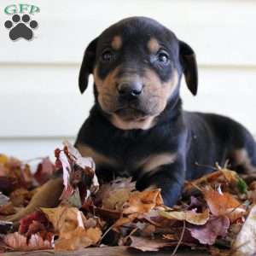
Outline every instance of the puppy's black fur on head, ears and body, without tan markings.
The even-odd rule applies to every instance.
[[[158,74],[161,81],[170,79],[173,68],[176,68],[178,83],[184,73],[189,90],[196,94],[198,81],[193,49],[179,41],[166,27],[142,17],[121,20],[89,45],[80,70],[79,87],[82,92],[87,87],[88,75],[99,60],[104,44],[116,34],[125,38],[125,46],[111,65],[98,62],[101,79],[120,63],[124,63],[125,67],[137,67],[137,73],[142,75],[143,67],[148,67]],[[158,38],[165,45],[172,62],[168,67],[154,66],[145,59],[148,53],[143,45],[147,43],[148,35]],[[157,117],[156,124],[148,130],[121,130],[115,127],[109,120],[109,114],[102,110],[97,101],[96,86],[95,93],[96,103],[82,125],[75,144],[90,146],[119,163],[116,167],[97,165],[96,172],[102,179],[131,176],[137,180],[137,189],[145,189],[154,183],[161,189],[166,205],[172,206],[181,195],[184,180],[212,172],[212,168],[207,166],[215,166],[216,162],[224,165],[230,159],[233,168],[249,171],[248,166],[242,166],[233,157],[236,150],[244,149],[250,164],[256,166],[256,147],[252,135],[232,119],[210,113],[183,111],[179,84],[166,108]],[[177,159],[172,164],[160,166],[158,172],[142,176],[141,170],[134,167],[148,155],[164,152],[177,154]]]

